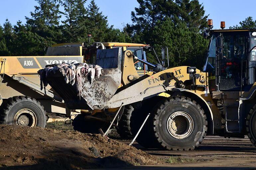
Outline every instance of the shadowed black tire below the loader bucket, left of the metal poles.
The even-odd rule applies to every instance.
[[[99,129],[102,129],[102,131],[105,133],[110,123],[97,120],[85,120],[84,115],[80,114],[74,118],[72,125],[75,131],[86,134],[99,134]],[[111,132],[111,130],[112,129],[109,130],[108,134]]]

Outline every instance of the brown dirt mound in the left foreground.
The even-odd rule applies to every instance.
[[[160,161],[101,135],[0,125],[0,169],[109,168]]]

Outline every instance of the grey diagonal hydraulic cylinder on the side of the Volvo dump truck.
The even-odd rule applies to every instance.
[[[13,75],[12,79],[18,81],[19,83],[21,83],[23,85],[26,85],[26,86],[34,89],[34,90],[36,90],[36,91],[38,91],[38,92],[40,92],[42,94],[45,94],[45,95],[55,99],[56,101],[64,103],[64,100],[60,96],[54,94],[53,92],[50,92],[50,90],[48,90],[48,89],[45,89],[45,92],[43,92],[39,85],[37,85],[34,82],[31,82],[31,81],[25,79],[24,77],[16,77],[15,75]]]

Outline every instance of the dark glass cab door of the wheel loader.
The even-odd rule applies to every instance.
[[[246,85],[247,35],[243,32],[223,32],[219,52],[219,90],[240,91]]]

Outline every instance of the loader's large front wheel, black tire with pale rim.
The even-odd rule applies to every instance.
[[[153,134],[164,149],[193,150],[206,136],[204,111],[190,98],[170,97],[160,102],[154,113]]]

